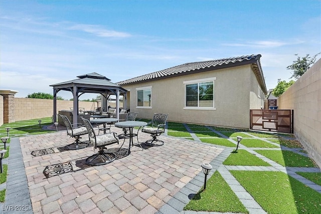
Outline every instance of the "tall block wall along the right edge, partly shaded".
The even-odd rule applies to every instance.
[[[277,103],[279,109],[294,109],[294,135],[321,167],[321,59]]]

